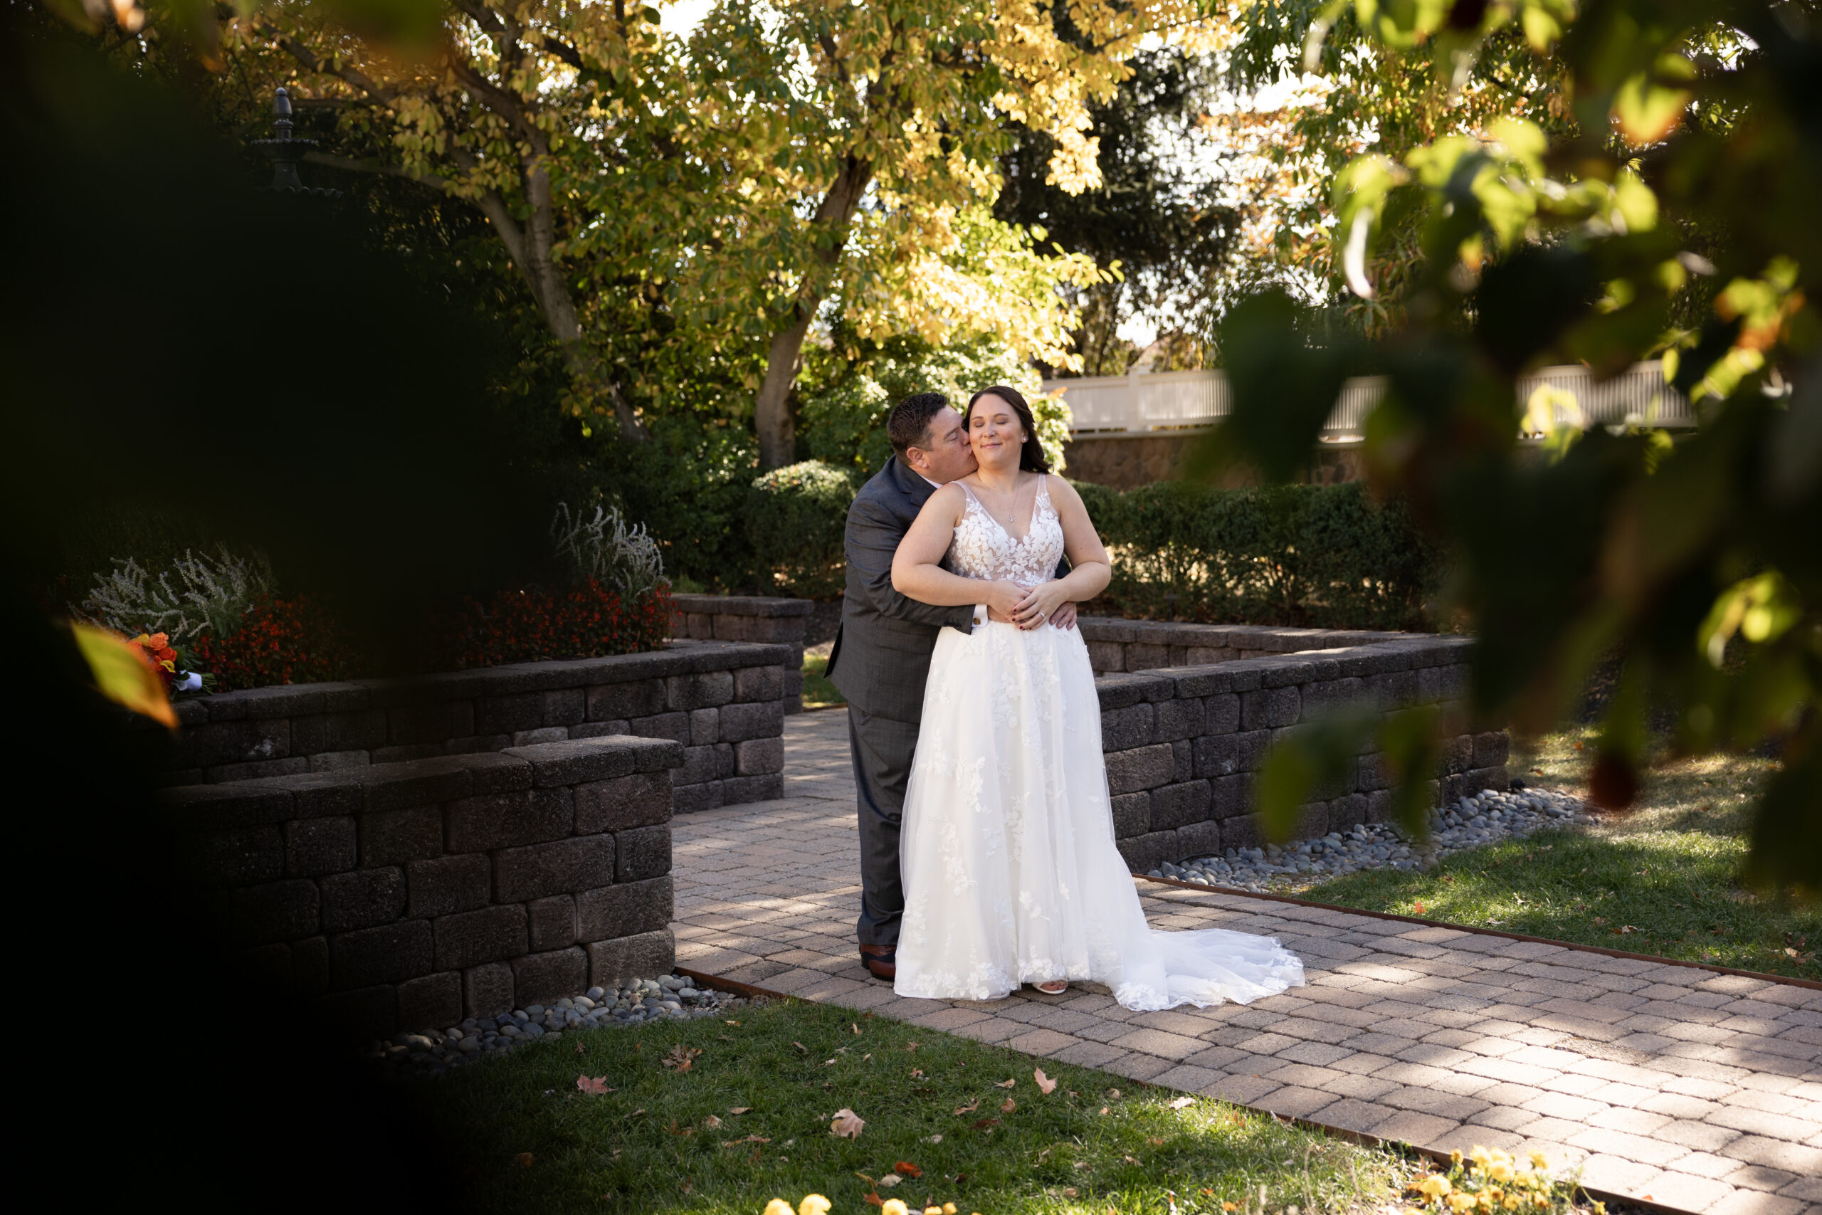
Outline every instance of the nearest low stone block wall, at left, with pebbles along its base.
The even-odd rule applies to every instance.
[[[160,792],[204,927],[374,1038],[663,975],[683,745],[585,738]]]

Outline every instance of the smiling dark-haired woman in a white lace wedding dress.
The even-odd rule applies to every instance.
[[[964,424],[978,472],[931,495],[893,559],[900,594],[989,614],[973,634],[944,628],[929,663],[895,991],[997,1000],[1026,982],[1057,995],[1093,980],[1130,1009],[1168,1009],[1303,985],[1303,964],[1274,938],[1146,925],[1113,847],[1088,647],[1049,625],[1106,588],[1108,550],[1077,492],[1049,475],[1017,390],[975,393]]]

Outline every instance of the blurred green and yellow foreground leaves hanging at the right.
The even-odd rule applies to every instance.
[[[1343,4],[1330,11],[1339,13]],[[1439,82],[1520,22],[1560,44],[1574,131],[1496,120],[1336,177],[1346,282],[1381,231],[1421,233],[1421,264],[1376,342],[1312,344],[1299,308],[1255,297],[1228,317],[1233,419],[1204,466],[1288,477],[1350,373],[1388,379],[1366,423],[1372,485],[1410,503],[1450,552],[1479,634],[1472,707],[1540,732],[1591,667],[1620,681],[1589,772],[1596,801],[1638,789],[1647,707],[1676,705],[1680,752],[1782,756],[1745,873],[1822,887],[1822,13],[1815,4],[1596,0],[1372,7],[1387,46],[1436,47]],[[1321,29],[1314,35],[1319,44]],[[1685,233],[1725,233],[1711,255]],[[1691,277],[1718,290],[1680,326]],[[1616,373],[1662,355],[1700,428],[1674,446],[1636,426],[1556,428],[1530,459],[1521,372]],[[1334,729],[1328,749],[1357,745]],[[1314,745],[1314,743],[1312,743]],[[1405,772],[1423,781],[1423,747]],[[1317,761],[1315,750],[1306,760]],[[1264,807],[1283,822],[1294,805]],[[1416,807],[1419,798],[1407,805]]]

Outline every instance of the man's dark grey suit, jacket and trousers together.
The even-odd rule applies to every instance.
[[[937,492],[893,455],[847,510],[847,594],[829,652],[829,679],[847,698],[860,809],[862,945],[896,945],[904,914],[898,823],[924,716],[937,634],[971,632],[973,607],[931,607],[893,590],[893,554]]]

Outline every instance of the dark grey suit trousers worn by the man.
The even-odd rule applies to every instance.
[[[898,829],[916,732],[916,721],[893,721],[847,707],[847,747],[860,812],[860,920],[855,934],[862,945],[898,944],[898,922],[906,913]]]

